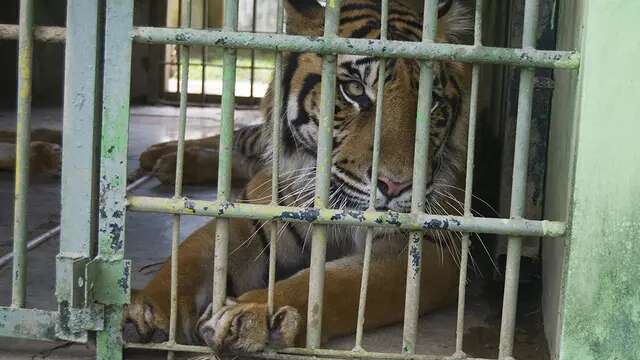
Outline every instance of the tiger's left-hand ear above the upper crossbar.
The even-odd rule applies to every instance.
[[[324,4],[319,0],[286,0],[287,34],[321,36]]]

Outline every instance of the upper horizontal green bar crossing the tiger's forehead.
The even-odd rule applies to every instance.
[[[353,54],[375,57],[404,57],[425,61],[461,61],[557,69],[577,69],[580,65],[579,54],[572,51],[507,49],[488,46],[474,47],[472,45],[151,27],[137,27],[134,29],[132,36],[134,41],[148,44],[208,45],[237,49],[313,52],[323,55]]]

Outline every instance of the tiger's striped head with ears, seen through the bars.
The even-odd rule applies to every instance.
[[[472,20],[457,5],[447,2],[438,21],[439,42],[458,42]],[[399,1],[389,4],[388,38],[420,41],[420,17]],[[287,7],[289,33],[319,36],[323,8],[311,0],[290,0]],[[380,37],[380,4],[374,0],[343,0],[339,36]],[[366,56],[337,58],[336,105],[333,126],[330,207],[365,210],[369,193],[376,190],[376,210],[409,212],[414,161],[427,169],[427,206],[447,202],[458,186],[466,156],[467,69],[459,63],[434,62],[428,159],[414,159],[418,78],[420,64],[410,59],[389,59],[384,79],[379,78],[380,60]],[[287,54],[283,77],[281,163],[283,174],[297,173],[291,184],[298,194],[313,191],[322,58],[316,54]],[[384,81],[379,173],[371,178],[375,110],[378,82]],[[270,96],[265,105],[269,111]],[[419,134],[418,136],[424,136]],[[310,169],[310,170],[305,170]],[[285,175],[286,176],[286,175]],[[303,177],[304,178],[304,177]],[[300,195],[298,195],[298,198]],[[311,199],[312,196],[307,198]],[[440,200],[440,201],[439,201]],[[310,205],[309,200],[293,205]],[[427,209],[438,212],[438,209]]]

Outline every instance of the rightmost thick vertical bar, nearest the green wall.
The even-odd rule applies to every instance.
[[[538,0],[526,0],[522,47],[534,49],[538,25]],[[518,116],[516,120],[516,143],[513,160],[513,182],[511,185],[511,218],[524,216],[527,186],[527,166],[529,162],[529,134],[531,127],[531,104],[533,102],[533,68],[520,70],[518,92]],[[510,237],[507,247],[504,296],[502,301],[502,323],[500,326],[499,358],[510,357],[513,353],[513,336],[516,325],[516,305],[518,302],[518,282],[520,277],[520,255],[522,237]]]

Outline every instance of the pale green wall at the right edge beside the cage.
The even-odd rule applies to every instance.
[[[583,62],[557,77],[546,209],[570,233],[546,267],[545,325],[560,359],[640,359],[640,1],[562,3],[559,41]]]

